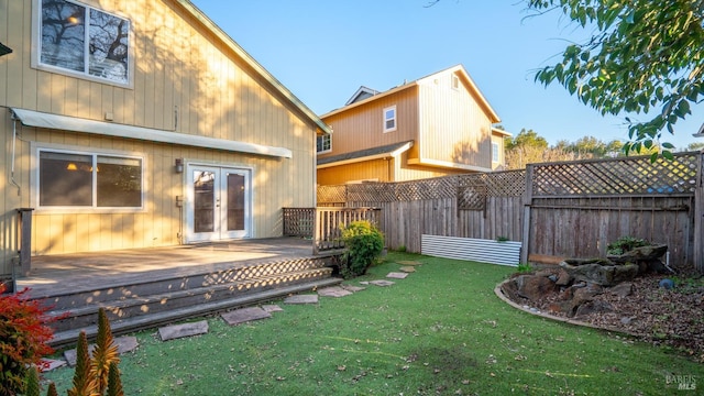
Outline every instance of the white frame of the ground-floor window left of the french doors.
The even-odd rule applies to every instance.
[[[141,163],[141,178],[142,185],[140,186],[141,197],[139,207],[99,207],[97,206],[97,184],[96,184],[96,173],[94,172],[92,176],[92,205],[91,206],[40,206],[40,153],[41,152],[51,152],[51,153],[61,153],[61,154],[75,154],[75,155],[90,155],[92,156],[94,165],[97,162],[98,156],[113,156],[121,158],[130,158],[138,160]],[[134,213],[134,212],[144,212],[146,210],[146,191],[145,188],[148,186],[147,177],[146,177],[146,156],[141,153],[134,152],[122,152],[122,151],[112,151],[112,150],[87,150],[85,147],[75,147],[68,145],[57,145],[57,144],[42,144],[34,143],[32,145],[32,168],[33,170],[33,180],[32,183],[32,195],[31,199],[34,202],[34,208],[36,212],[61,212],[61,213]],[[96,166],[97,168],[97,166]]]

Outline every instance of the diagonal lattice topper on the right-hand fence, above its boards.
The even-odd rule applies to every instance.
[[[608,196],[694,194],[697,157],[692,153],[674,160],[618,158],[536,165],[534,196]]]

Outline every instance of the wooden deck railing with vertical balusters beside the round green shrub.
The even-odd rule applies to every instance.
[[[380,227],[380,208],[283,208],[284,235],[311,238],[314,254],[344,249],[342,229],[360,220]],[[382,230],[383,231],[383,230]]]

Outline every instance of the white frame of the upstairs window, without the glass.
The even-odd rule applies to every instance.
[[[99,8],[86,4],[86,3],[81,3],[79,1],[75,1],[75,0],[64,0],[66,2],[69,3],[74,3],[80,7],[86,8],[86,13],[90,14],[90,10],[95,10],[95,11],[99,11],[102,13],[106,13],[108,15],[112,15],[114,18],[119,18],[122,20],[127,20],[130,24],[129,28],[129,37],[128,37],[128,76],[127,76],[127,81],[119,81],[119,80],[112,80],[109,78],[105,78],[105,77],[100,77],[100,76],[94,76],[90,74],[90,69],[88,67],[89,64],[89,53],[88,53],[88,47],[90,45],[90,36],[89,36],[89,29],[85,30],[85,48],[84,48],[84,55],[85,55],[85,69],[84,72],[77,72],[77,70],[72,70],[69,68],[64,68],[61,66],[56,66],[56,65],[51,65],[51,64],[45,64],[42,63],[42,0],[33,0],[33,7],[32,7],[32,12],[33,12],[33,26],[32,26],[32,56],[31,56],[31,66],[33,68],[36,69],[41,69],[41,70],[46,70],[46,72],[52,72],[52,73],[57,73],[57,74],[63,74],[63,75],[67,75],[67,76],[73,76],[73,77],[77,77],[77,78],[81,78],[81,79],[86,79],[86,80],[91,80],[91,81],[96,81],[96,82],[102,82],[102,84],[109,84],[109,85],[114,85],[118,87],[124,87],[124,88],[134,88],[134,24],[132,23],[132,20],[130,20],[129,18],[124,16],[124,15],[120,15],[118,13],[114,12],[108,12],[105,10],[101,10]],[[88,22],[90,23],[90,22]]]

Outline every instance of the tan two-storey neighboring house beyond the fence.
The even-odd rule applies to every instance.
[[[499,118],[462,66],[378,92],[361,87],[321,116],[318,184],[403,182],[504,164]]]

